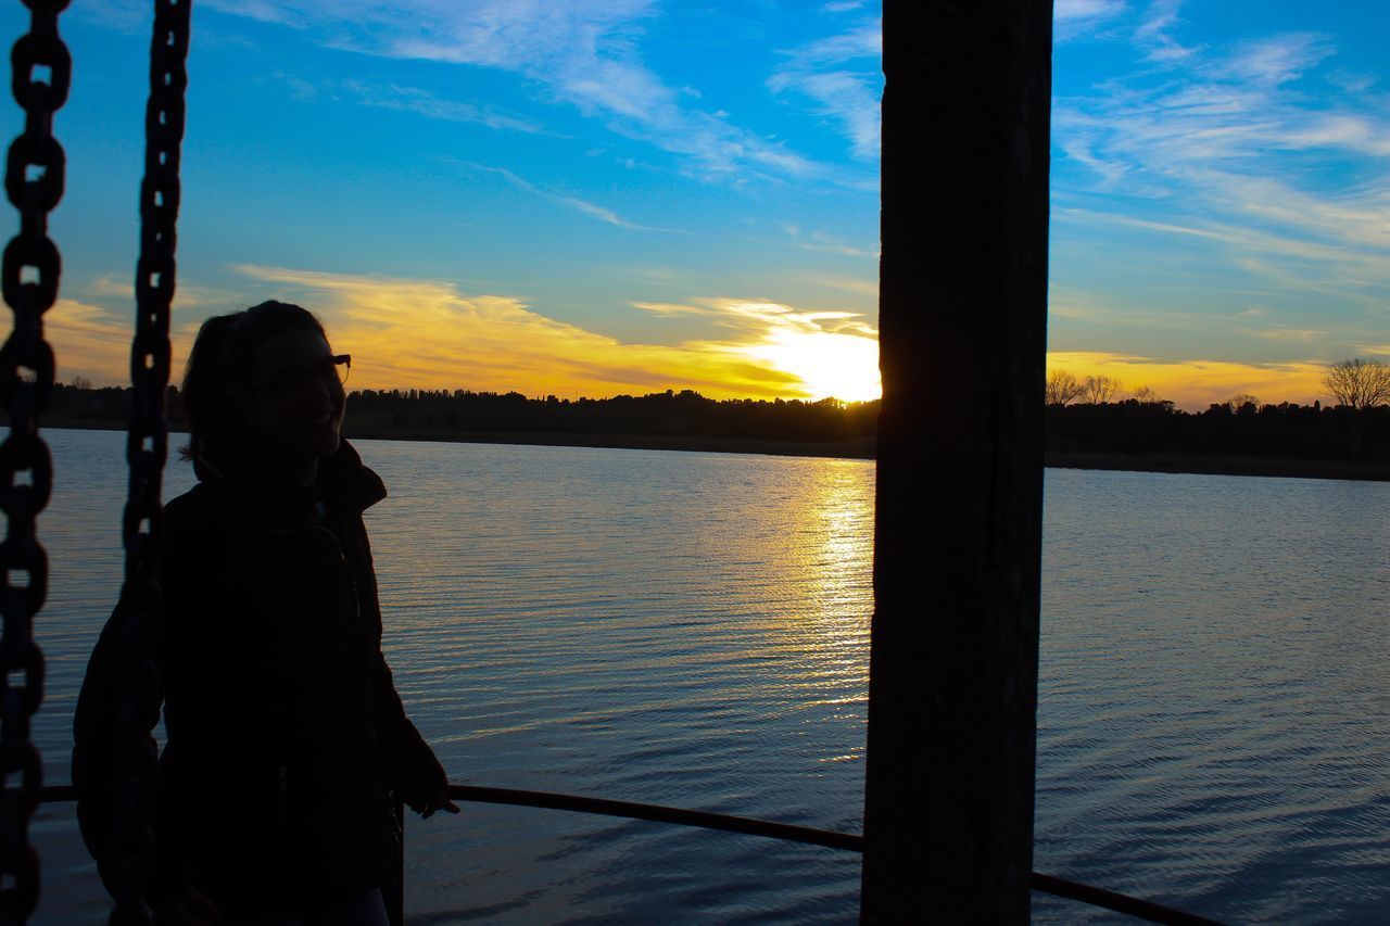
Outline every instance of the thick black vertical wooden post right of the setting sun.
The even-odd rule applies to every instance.
[[[1052,0],[884,0],[866,923],[1029,918]]]

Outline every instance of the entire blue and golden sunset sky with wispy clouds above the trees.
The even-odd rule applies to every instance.
[[[146,6],[60,21],[64,381],[128,377]],[[320,314],[356,388],[872,398],[880,17],[197,0],[175,368],[203,318],[275,298]],[[1390,7],[1055,17],[1049,366],[1200,409],[1326,400],[1327,363],[1390,360]],[[0,38],[24,29],[6,4]]]

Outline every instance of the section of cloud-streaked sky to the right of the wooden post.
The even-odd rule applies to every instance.
[[[1056,10],[1052,363],[1198,405],[1386,359],[1390,7]]]

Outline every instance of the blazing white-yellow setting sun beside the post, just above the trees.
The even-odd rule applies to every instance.
[[[812,399],[867,402],[883,396],[878,342],[830,331],[774,331],[742,349],[801,380]]]

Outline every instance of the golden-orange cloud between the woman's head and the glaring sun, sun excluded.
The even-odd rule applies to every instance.
[[[724,311],[733,320],[726,325],[733,328],[727,339],[626,343],[548,318],[518,299],[464,295],[448,282],[259,266],[238,270],[281,284],[282,298],[317,311],[335,349],[353,355],[356,388],[517,389],[569,398],[674,388],[712,398],[820,398],[802,370],[759,346],[773,343],[778,331],[849,336],[828,330],[845,325],[848,313],[798,313],[773,303],[726,300],[745,309],[726,310],[724,302],[663,309]],[[876,357],[877,343],[858,334],[856,341],[873,343]]]

